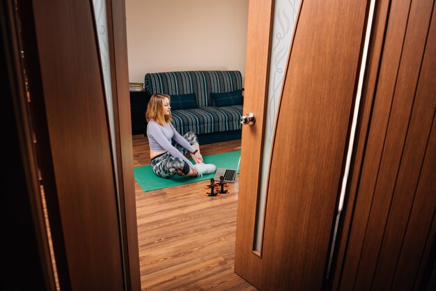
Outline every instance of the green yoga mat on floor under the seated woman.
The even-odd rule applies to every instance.
[[[241,151],[237,150],[235,152],[224,152],[223,154],[203,156],[203,159],[205,164],[214,164],[217,168],[237,168],[240,155]],[[210,180],[214,175],[215,173],[203,175],[201,178],[173,175],[172,178],[164,179],[157,176],[151,169],[150,165],[134,168],[134,178],[137,180],[139,186],[141,186],[144,192]]]

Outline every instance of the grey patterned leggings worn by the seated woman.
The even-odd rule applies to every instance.
[[[187,132],[183,137],[191,146],[198,145],[198,138],[194,132]],[[176,143],[175,148],[184,156],[188,152],[187,149],[183,148],[178,143]],[[169,152],[153,157],[153,159],[151,159],[151,168],[153,168],[153,172],[155,172],[156,175],[162,178],[171,178],[176,174],[187,175],[191,169],[187,162],[183,161],[180,157],[173,157]]]

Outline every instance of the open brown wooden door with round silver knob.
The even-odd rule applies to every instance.
[[[261,290],[321,290],[368,1],[301,1],[274,129],[265,211],[256,214],[273,2],[249,2],[244,113],[254,113],[256,123],[242,131],[235,272]],[[263,227],[256,234],[259,215]]]

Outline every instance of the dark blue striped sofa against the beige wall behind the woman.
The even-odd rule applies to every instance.
[[[180,134],[194,132],[201,144],[240,139],[242,104],[216,107],[210,94],[242,90],[239,71],[148,73],[144,85],[149,95],[195,93],[195,108],[171,111],[171,122]]]

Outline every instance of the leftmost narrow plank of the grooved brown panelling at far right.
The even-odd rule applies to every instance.
[[[363,170],[359,183],[359,193],[366,195],[357,195],[355,213],[350,230],[350,239],[348,241],[348,258],[345,260],[343,267],[343,279],[341,289],[352,290],[357,274],[357,266],[360,260],[360,251],[363,247],[366,232],[366,223],[368,223],[369,212],[373,200],[375,189],[375,178],[377,176],[382,147],[384,142],[384,133],[386,132],[389,121],[389,111],[391,108],[392,97],[394,96],[395,79],[398,72],[398,66],[401,56],[401,44],[405,36],[407,26],[407,14],[410,7],[410,1],[395,1],[391,3],[389,11],[389,22],[384,40],[384,52],[380,64],[379,78],[376,86],[373,113],[371,118],[371,127],[366,145],[366,152]],[[384,33],[384,31],[382,32]],[[378,61],[377,61],[378,64]],[[378,157],[368,159],[368,155]]]

